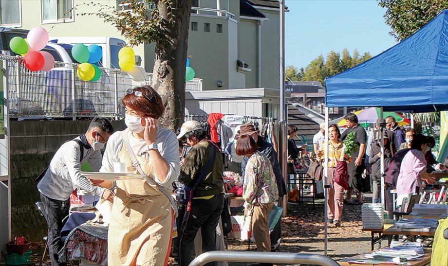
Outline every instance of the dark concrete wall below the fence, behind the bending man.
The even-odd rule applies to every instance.
[[[34,205],[40,201],[35,178],[64,142],[87,130],[90,121],[11,122],[11,227],[12,237],[40,241],[47,234],[45,219]],[[112,122],[115,130],[123,121]]]

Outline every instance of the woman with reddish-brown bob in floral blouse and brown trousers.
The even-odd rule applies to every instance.
[[[243,199],[245,212],[253,215],[252,230],[257,251],[271,251],[268,219],[274,202],[279,198],[271,162],[258,151],[258,145],[249,135],[238,140],[236,153],[249,158],[246,163]]]

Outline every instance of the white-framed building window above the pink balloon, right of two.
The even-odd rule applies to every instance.
[[[68,22],[73,19],[74,0],[41,0],[42,22]]]

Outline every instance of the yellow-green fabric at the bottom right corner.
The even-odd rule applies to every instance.
[[[448,265],[448,240],[443,237],[443,231],[448,228],[448,218],[440,219],[434,234],[432,244],[431,265]]]

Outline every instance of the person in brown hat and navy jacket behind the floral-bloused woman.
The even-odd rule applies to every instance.
[[[249,135],[254,138],[255,142],[257,142],[258,151],[264,155],[272,164],[272,169],[274,170],[274,175],[277,183],[277,188],[279,190],[279,198],[283,195],[286,195],[286,185],[283,180],[283,176],[280,171],[280,163],[278,159],[277,152],[274,150],[274,147],[271,143],[265,141],[258,135],[259,130],[255,130],[253,124],[246,123],[242,124],[240,127],[240,136]],[[238,144],[237,144],[238,145]],[[244,172],[246,168],[248,158],[243,158],[241,163],[241,173],[242,177],[244,177]],[[271,236],[271,251],[277,251],[280,247],[281,242],[281,220],[276,224],[274,230],[270,234]]]

